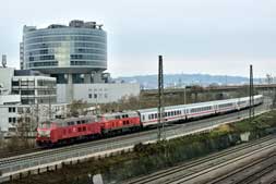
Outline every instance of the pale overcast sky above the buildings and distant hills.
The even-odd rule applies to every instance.
[[[0,53],[19,66],[23,25],[96,21],[112,76],[157,73],[276,75],[275,0],[2,0]]]

